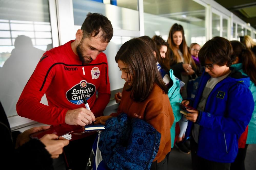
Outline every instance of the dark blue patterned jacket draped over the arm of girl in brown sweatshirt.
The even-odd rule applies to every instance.
[[[150,169],[161,134],[142,119],[127,119],[122,113],[107,120],[98,147],[110,169]]]

